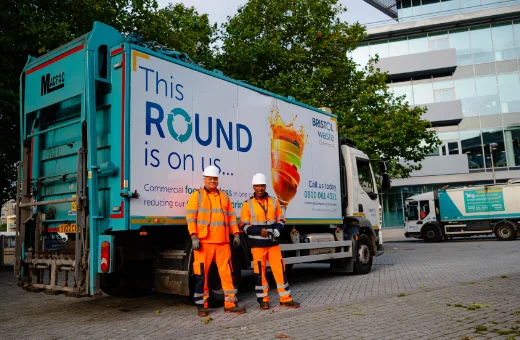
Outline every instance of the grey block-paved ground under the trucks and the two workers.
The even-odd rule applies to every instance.
[[[244,272],[244,315],[210,319],[177,298],[95,300],[31,294],[0,272],[0,339],[487,339],[520,340],[520,240],[386,244],[364,276],[295,266],[299,310],[260,311]],[[206,322],[206,323],[205,323]],[[477,330],[477,326],[481,331]],[[507,333],[507,334],[506,334]]]

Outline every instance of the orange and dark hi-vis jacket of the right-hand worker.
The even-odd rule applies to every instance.
[[[285,225],[285,215],[276,198],[267,193],[263,198],[252,196],[242,205],[240,227],[247,233],[251,247],[270,247],[276,240],[263,237],[262,229],[278,229],[281,233]]]

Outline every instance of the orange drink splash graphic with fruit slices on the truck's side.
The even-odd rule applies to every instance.
[[[303,149],[307,142],[305,128],[296,131],[294,116],[287,125],[280,117],[278,109],[271,110],[271,181],[280,204],[287,208],[296,195],[300,184]]]

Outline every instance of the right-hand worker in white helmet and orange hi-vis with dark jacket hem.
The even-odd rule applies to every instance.
[[[253,267],[256,278],[256,299],[260,309],[269,309],[269,285],[265,278],[265,263],[273,272],[276,288],[280,295],[280,306],[298,308],[300,304],[293,301],[285,263],[278,245],[278,237],[285,224],[284,212],[278,200],[265,191],[267,179],[264,174],[253,176],[254,195],[242,205],[240,226],[249,237],[253,253]]]

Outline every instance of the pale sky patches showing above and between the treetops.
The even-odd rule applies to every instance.
[[[169,3],[182,2],[187,7],[195,7],[199,14],[207,13],[210,22],[219,25],[226,21],[228,16],[233,16],[239,6],[244,5],[247,0],[157,0],[159,7],[166,7]],[[339,0],[339,3],[348,8],[342,19],[348,23],[359,21],[361,24],[388,20],[389,17],[363,0]]]

